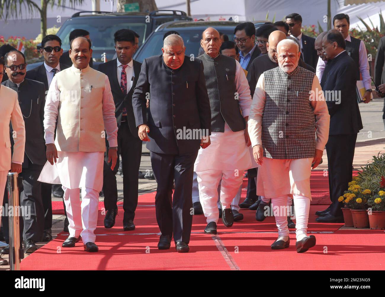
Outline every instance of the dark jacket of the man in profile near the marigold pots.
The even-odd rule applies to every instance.
[[[340,104],[325,95],[330,114],[329,135],[355,134],[362,129],[360,109],[356,98],[357,65],[346,52],[330,60],[322,75],[321,87],[324,93],[340,92]],[[325,78],[324,78],[325,76]],[[328,100],[329,97],[329,100]]]

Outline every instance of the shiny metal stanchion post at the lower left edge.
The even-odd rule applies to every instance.
[[[13,215],[9,218],[9,265],[11,270],[20,270],[20,259],[24,253],[20,248],[20,204],[17,172],[10,172],[7,176],[8,205],[13,207]]]

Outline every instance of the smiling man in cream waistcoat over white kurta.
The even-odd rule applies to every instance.
[[[88,65],[90,48],[88,39],[75,38],[70,50],[74,64],[57,73],[50,85],[44,108],[48,162],[39,180],[63,185],[69,220],[69,237],[63,247],[74,247],[81,236],[84,249],[97,252],[94,230],[103,186],[104,138],[107,132],[114,168],[117,124],[109,79]]]

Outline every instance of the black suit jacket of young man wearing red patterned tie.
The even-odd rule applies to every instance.
[[[132,82],[132,87],[128,90],[127,95],[122,93],[120,87],[120,77],[118,79],[116,71],[117,71],[117,59],[102,63],[97,68],[98,71],[103,72],[108,76],[111,85],[112,96],[114,97],[115,102],[115,117],[118,128],[120,127],[122,120],[122,111],[123,108],[126,107],[127,110],[127,120],[128,125],[131,131],[132,136],[139,138],[138,129],[135,124],[135,116],[134,110],[132,108],[132,94],[134,93],[134,89],[136,87],[136,83],[139,78],[139,73],[141,73],[142,63],[139,63],[133,60],[133,68],[134,68],[134,81]],[[131,79],[131,77],[127,77],[127,80]]]

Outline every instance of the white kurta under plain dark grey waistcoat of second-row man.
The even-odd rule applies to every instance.
[[[246,75],[236,61],[235,84],[243,117],[249,115],[251,95]],[[244,139],[244,130],[233,132],[227,123],[224,132],[211,132],[211,144],[199,149],[194,171],[246,170],[252,168],[251,155]]]

